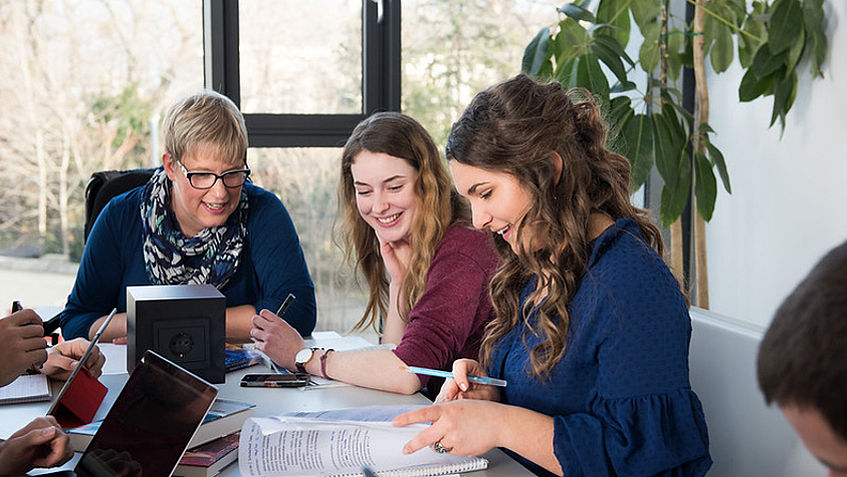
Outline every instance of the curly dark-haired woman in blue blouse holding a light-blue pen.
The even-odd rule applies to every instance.
[[[474,226],[502,238],[504,263],[480,361],[454,363],[441,404],[395,419],[433,423],[406,452],[503,447],[539,475],[569,477],[711,465],[688,380],[687,303],[605,134],[591,100],[524,75],[479,93],[453,125],[456,188]]]

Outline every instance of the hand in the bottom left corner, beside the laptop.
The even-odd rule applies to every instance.
[[[62,465],[73,457],[68,436],[53,416],[39,417],[0,443],[0,475]]]

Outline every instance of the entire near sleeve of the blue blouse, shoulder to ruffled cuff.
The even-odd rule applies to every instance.
[[[688,380],[687,306],[661,257],[637,237],[624,222],[605,247],[600,241],[572,303],[574,358],[597,367],[584,407],[555,417],[554,449],[568,477],[694,477],[711,465]]]

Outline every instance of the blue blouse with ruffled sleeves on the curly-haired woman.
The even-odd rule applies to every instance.
[[[554,418],[553,451],[566,477],[704,475],[712,460],[688,381],[688,309],[634,220],[597,238],[568,311],[565,355],[546,380],[528,374],[525,323],[498,341],[488,372],[509,382],[502,402]],[[526,341],[531,349],[542,337],[529,332]]]

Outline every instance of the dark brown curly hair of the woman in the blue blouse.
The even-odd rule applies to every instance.
[[[527,230],[545,238],[533,240],[533,250],[519,246],[517,253],[498,240],[503,264],[490,287],[497,319],[486,327],[483,365],[497,340],[521,322],[545,337],[530,350],[533,375],[548,376],[564,356],[567,306],[588,263],[593,213],[634,219],[646,242],[660,256],[664,252],[659,228],[630,204],[629,161],[606,148],[606,125],[590,98],[584,90],[566,92],[559,83],[541,84],[522,74],[477,94],[450,131],[448,160],[510,174],[531,195],[516,243],[524,243]],[[554,153],[562,158],[558,176]],[[538,287],[519,309],[521,289],[532,276]],[[537,321],[530,323],[537,303]]]

